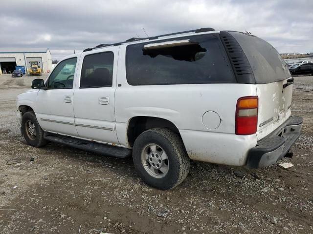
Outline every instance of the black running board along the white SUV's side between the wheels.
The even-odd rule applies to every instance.
[[[77,139],[73,137],[66,137],[58,134],[45,133],[46,140],[62,145],[71,146],[81,150],[91,151],[101,155],[107,155],[112,157],[128,157],[132,154],[131,149],[117,147],[112,145],[100,144],[93,141]]]

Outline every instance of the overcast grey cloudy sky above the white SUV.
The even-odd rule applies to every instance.
[[[213,27],[248,31],[280,53],[313,52],[313,0],[5,0],[0,47],[53,59],[100,43]]]

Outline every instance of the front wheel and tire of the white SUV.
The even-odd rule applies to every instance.
[[[31,127],[30,127],[31,126]],[[22,116],[22,134],[26,142],[33,147],[42,147],[47,144],[44,131],[40,127],[34,112],[26,112]]]

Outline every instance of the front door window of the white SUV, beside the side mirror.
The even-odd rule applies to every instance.
[[[48,89],[73,88],[74,73],[77,58],[60,62],[52,71],[48,80]]]

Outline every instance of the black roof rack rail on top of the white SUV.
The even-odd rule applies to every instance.
[[[202,33],[202,32],[210,32],[210,31],[215,31],[214,28],[199,28],[199,29],[195,29],[195,30],[188,30],[188,31],[182,31],[182,32],[177,32],[177,33],[169,33],[169,34],[163,34],[163,35],[159,35],[159,36],[155,36],[155,37],[148,37],[148,38],[130,38],[127,39],[126,41],[122,41],[122,42],[118,42],[118,43],[113,43],[113,44],[99,44],[96,47],[93,48],[87,48],[85,50],[83,50],[83,52],[86,51],[91,51],[93,49],[98,49],[98,48],[102,48],[102,47],[107,47],[107,46],[116,46],[116,45],[120,45],[122,43],[126,43],[126,42],[131,42],[131,41],[136,41],[136,40],[154,40],[154,39],[158,39],[161,37],[166,37],[166,36],[172,36],[172,35],[177,35],[177,34],[183,34],[183,33]]]

